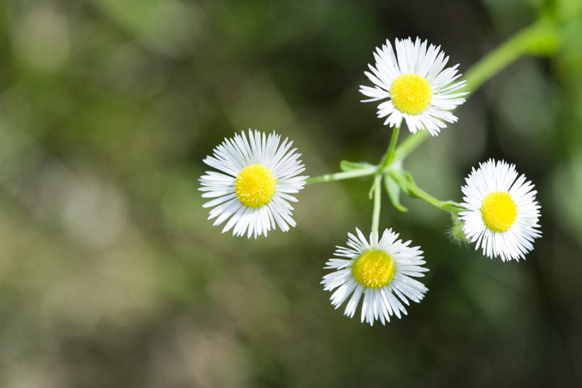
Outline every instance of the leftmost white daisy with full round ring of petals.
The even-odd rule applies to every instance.
[[[216,217],[213,225],[226,223],[222,232],[232,229],[232,235],[247,237],[275,229],[275,225],[286,232],[296,223],[291,218],[297,202],[293,193],[298,193],[306,183],[307,176],[298,176],[305,171],[299,160],[301,153],[291,149],[293,141],[274,131],[264,132],[249,129],[249,138],[244,131],[225,139],[212,151],[204,163],[217,171],[206,171],[200,178],[204,198],[214,198],[203,205],[210,210],[209,220]],[[290,150],[291,149],[291,150]]]

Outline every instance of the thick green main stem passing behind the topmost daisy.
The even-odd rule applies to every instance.
[[[483,82],[489,80],[490,77],[524,54],[544,51],[546,43],[551,41],[555,32],[556,26],[548,21],[538,21],[532,26],[524,28],[524,30],[502,43],[502,45],[485,55],[483,59],[470,68],[465,77],[467,85],[463,88],[463,91],[474,92],[483,85]],[[429,136],[429,131],[426,130],[411,134],[397,148],[394,159],[397,161],[404,160],[409,153],[414,151]]]

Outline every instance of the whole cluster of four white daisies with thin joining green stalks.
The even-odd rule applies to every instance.
[[[365,75],[373,86],[361,86],[368,97],[363,101],[381,101],[377,115],[392,128],[392,139],[382,161],[350,163],[343,172],[315,178],[300,175],[305,168],[292,141],[272,132],[264,134],[249,129],[217,146],[204,159],[216,171],[206,171],[200,178],[203,206],[211,208],[213,225],[225,223],[222,232],[232,230],[236,236],[266,237],[279,227],[287,232],[296,225],[293,220],[293,196],[307,183],[374,176],[374,212],[372,231],[366,236],[356,228],[348,233],[347,247],[337,247],[335,257],[325,263],[330,273],[323,276],[323,289],[333,291],[331,304],[339,308],[346,303],[344,314],[353,317],[360,299],[362,322],[389,322],[392,316],[406,315],[410,301],[420,302],[428,289],[414,278],[424,276],[426,264],[419,247],[403,242],[392,229],[379,234],[380,182],[384,180],[393,205],[405,211],[398,195],[421,198],[455,220],[452,234],[456,239],[473,243],[487,257],[508,260],[524,259],[533,249],[534,239],[541,237],[537,191],[515,166],[489,159],[465,178],[460,188],[463,202],[440,201],[421,190],[397,160],[397,136],[406,123],[410,136],[426,132],[432,136],[457,121],[453,109],[465,102],[465,80],[458,65],[446,67],[448,56],[440,46],[429,45],[419,38],[396,39],[394,48],[386,41],[374,52],[374,65]],[[418,132],[418,133],[417,133]],[[404,151],[403,151],[404,152]],[[399,163],[396,163],[398,161]]]

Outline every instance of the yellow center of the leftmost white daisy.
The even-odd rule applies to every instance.
[[[243,168],[235,180],[235,192],[243,205],[260,208],[269,203],[275,194],[277,180],[262,164],[250,164]]]

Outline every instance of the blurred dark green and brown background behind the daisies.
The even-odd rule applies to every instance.
[[[578,0],[5,0],[0,3],[1,387],[577,387],[582,379],[582,18]],[[202,159],[235,131],[295,140],[311,176],[376,162],[389,131],[358,85],[386,38],[466,72],[541,14],[522,58],[406,160],[460,200],[471,166],[534,180],[544,237],[503,264],[448,215],[384,197],[381,227],[426,252],[430,291],[370,328],[322,267],[369,230],[369,180],[303,190],[298,227],[222,235]]]

